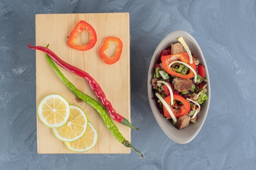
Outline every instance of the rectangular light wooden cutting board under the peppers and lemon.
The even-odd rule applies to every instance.
[[[88,51],[77,51],[67,46],[67,37],[79,20],[85,20],[91,24],[97,33],[97,43]],[[116,112],[130,121],[129,22],[129,13],[36,15],[36,45],[46,46],[49,44],[48,48],[62,60],[89,73],[99,83]],[[123,42],[121,58],[112,65],[105,64],[98,54],[104,38],[108,36],[118,37]],[[88,42],[88,32],[81,33],[76,42]],[[110,48],[106,53],[111,55],[113,51],[115,51],[114,43],[110,44]],[[64,70],[60,66],[58,68],[76,88],[100,102],[83,78]],[[99,113],[85,102],[77,100],[76,96],[61,82],[47,62],[45,53],[36,51],[37,105],[45,96],[53,93],[62,95],[70,104],[81,107],[87,114],[88,121],[92,122],[97,129],[99,133],[97,145],[84,153],[130,153],[130,148],[126,148],[115,139]],[[117,121],[114,121],[114,123],[124,137],[130,141],[131,129],[119,124]],[[52,129],[46,127],[38,118],[37,147],[38,153],[75,153],[68,150],[65,144],[54,136]]]

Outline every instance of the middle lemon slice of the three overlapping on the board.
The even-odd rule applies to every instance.
[[[70,117],[67,122],[59,127],[53,128],[54,135],[61,141],[71,142],[81,138],[88,125],[87,115],[78,106],[70,105]]]

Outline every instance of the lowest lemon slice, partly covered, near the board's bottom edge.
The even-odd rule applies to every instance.
[[[86,152],[96,145],[97,140],[98,132],[94,128],[93,124],[88,122],[88,127],[83,137],[81,137],[77,141],[64,143],[69,150],[72,150],[74,152]]]

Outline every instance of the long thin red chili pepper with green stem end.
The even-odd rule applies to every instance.
[[[29,49],[40,50],[45,52],[51,57],[52,60],[54,60],[61,67],[65,68],[67,71],[70,71],[71,73],[75,73],[76,75],[83,77],[88,82],[90,88],[92,88],[92,90],[96,93],[97,97],[101,99],[102,104],[107,107],[110,117],[113,120],[118,121],[119,123],[124,124],[125,126],[129,126],[130,128],[139,130],[139,128],[135,128],[134,126],[132,126],[126,118],[116,113],[111,103],[106,99],[106,95],[101,89],[101,87],[99,86],[99,84],[88,73],[86,73],[85,71],[82,71],[81,69],[75,66],[72,66],[64,62],[54,52],[52,52],[51,50],[47,49],[44,46],[31,46],[29,43],[28,47]]]

